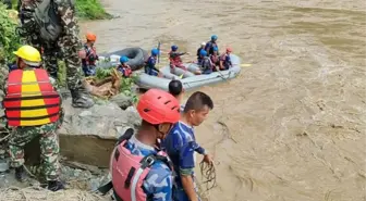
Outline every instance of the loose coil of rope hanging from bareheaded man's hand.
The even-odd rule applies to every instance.
[[[209,191],[216,187],[216,169],[213,162],[210,164],[205,163],[202,161],[199,163],[200,174],[203,176],[202,184],[206,186],[205,191]]]

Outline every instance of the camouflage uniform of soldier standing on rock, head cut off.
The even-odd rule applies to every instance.
[[[82,84],[82,77],[78,73],[81,66],[81,60],[78,58],[78,50],[82,49],[82,41],[78,38],[78,26],[75,15],[75,8],[71,7],[72,0],[53,0],[57,8],[57,13],[61,17],[61,25],[63,33],[61,33],[59,39],[54,42],[44,42],[40,38],[38,25],[33,16],[33,13],[37,5],[42,0],[20,0],[20,18],[22,22],[22,28],[20,34],[26,38],[28,45],[37,48],[42,53],[42,60],[45,67],[49,74],[57,79],[58,72],[58,59],[64,59],[66,65],[66,84],[71,90],[73,101],[84,99],[84,103],[89,108],[93,100]],[[42,49],[42,51],[41,51]],[[82,97],[84,95],[84,97]],[[85,97],[86,96],[86,97]]]

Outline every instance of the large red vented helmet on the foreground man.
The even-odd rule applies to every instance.
[[[180,120],[180,104],[178,100],[160,89],[149,89],[137,103],[141,117],[152,124],[176,123]]]

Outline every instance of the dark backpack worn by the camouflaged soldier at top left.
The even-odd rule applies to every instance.
[[[75,2],[69,0],[74,10]],[[53,0],[42,0],[35,9],[34,18],[40,28],[40,37],[48,41],[56,41],[62,33],[61,17],[58,15]]]

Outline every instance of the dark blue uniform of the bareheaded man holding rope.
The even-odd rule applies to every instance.
[[[205,149],[197,145],[193,127],[179,122],[168,134],[167,138],[162,141],[162,147],[166,149],[170,159],[173,162],[176,177],[173,188],[174,201],[190,201],[186,196],[181,180],[181,175],[191,175],[194,177],[195,167],[195,151],[205,154]],[[195,187],[197,192],[197,188]]]

